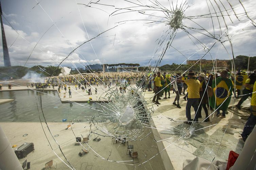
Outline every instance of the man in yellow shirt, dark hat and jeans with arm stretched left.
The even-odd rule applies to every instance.
[[[187,84],[188,87],[188,98],[187,98],[187,105],[186,105],[186,117],[187,121],[184,121],[186,124],[191,124],[191,106],[194,107],[195,110],[195,118],[194,121],[198,122],[198,104],[199,104],[199,99],[200,99],[200,90],[201,90],[201,84],[200,81],[196,78],[196,75],[194,72],[189,72],[188,73],[188,78],[187,80],[179,80],[177,79],[178,82],[183,82]]]

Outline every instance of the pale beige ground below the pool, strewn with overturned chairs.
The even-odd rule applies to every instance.
[[[88,126],[88,123],[77,123],[73,124],[72,128],[66,129],[67,124],[68,123],[48,123],[48,129],[45,123],[42,123],[42,128],[40,122],[0,123],[11,145],[17,145],[17,147],[19,147],[25,142],[34,143],[35,151],[29,153],[27,157],[19,160],[22,163],[25,161],[25,159],[27,159],[28,162],[31,162],[31,169],[42,169],[45,167],[45,163],[49,162],[50,160],[53,160],[55,164],[57,163],[57,169],[69,169],[67,166],[69,164],[65,160],[65,157],[75,169],[131,170],[151,169],[151,167],[153,169],[164,169],[160,155],[157,155],[148,161],[149,158],[158,153],[157,145],[152,140],[152,133],[147,139],[143,141],[132,141],[129,143],[134,145],[133,151],[138,152],[138,159],[134,159],[133,161],[130,155],[127,154],[127,142],[125,144],[121,144],[119,142],[117,144],[113,144],[113,141],[110,137],[99,136],[98,138],[101,140],[97,142],[93,141],[93,139],[97,136],[91,135],[89,136],[89,141],[87,143],[81,142],[79,145],[75,145],[75,137],[88,136],[90,126]],[[44,132],[46,133],[47,138],[45,137]],[[57,137],[54,137],[56,142],[54,141],[50,132],[53,136],[58,135]],[[23,137],[25,134],[28,135]],[[53,149],[51,149],[51,147]],[[78,153],[83,148],[87,148],[89,153],[80,157]],[[62,150],[65,157],[61,154],[60,149]],[[61,162],[56,154],[67,165]],[[115,161],[120,162],[117,163]],[[145,163],[142,164],[143,162]],[[138,167],[134,168],[134,166]]]

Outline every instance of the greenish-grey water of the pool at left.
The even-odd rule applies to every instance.
[[[61,122],[62,119],[84,122],[99,113],[87,108],[95,108],[96,103],[61,103],[60,99],[53,97],[59,97],[57,91],[45,93],[42,94],[42,109],[47,122]],[[0,91],[0,99],[14,99],[0,104],[0,122],[39,122],[38,110],[41,121],[44,121],[38,97],[38,92],[31,90]]]

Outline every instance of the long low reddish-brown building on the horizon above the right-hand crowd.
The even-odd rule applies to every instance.
[[[214,60],[211,60],[211,59],[201,59],[201,62],[200,62],[200,59],[198,60],[187,60],[187,65],[189,64],[195,64],[196,62],[198,62],[197,64],[201,64],[201,65],[213,65],[213,61]],[[217,59],[214,63],[214,65],[217,67],[228,67],[230,63],[230,60],[228,59]]]

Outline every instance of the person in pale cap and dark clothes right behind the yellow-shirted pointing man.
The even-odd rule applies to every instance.
[[[199,99],[199,106],[198,106],[198,117],[201,118],[202,117],[202,107],[204,109],[205,112],[205,120],[204,122],[208,122],[210,121],[209,117],[208,117],[208,110],[206,107],[206,104],[208,103],[208,95],[207,95],[207,82],[206,82],[206,75],[204,73],[200,73],[198,75],[198,80],[200,81],[200,85],[202,88],[202,91],[200,91],[200,99]]]

